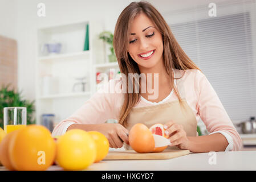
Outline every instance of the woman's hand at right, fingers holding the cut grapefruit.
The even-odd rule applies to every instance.
[[[189,139],[186,137],[186,131],[182,125],[170,121],[164,125],[165,134],[169,136],[171,146],[177,146],[180,149],[189,149]]]

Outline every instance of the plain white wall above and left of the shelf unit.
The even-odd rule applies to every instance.
[[[39,2],[46,5],[45,17],[37,15]],[[34,68],[37,28],[88,19],[103,19],[105,30],[113,31],[120,11],[128,3],[129,1],[17,1],[18,85],[25,97],[30,100],[35,98]],[[113,9],[114,5],[115,9]]]

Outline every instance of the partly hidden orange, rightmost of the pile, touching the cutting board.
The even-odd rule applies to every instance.
[[[105,135],[103,135],[102,133],[99,133],[98,131],[89,131],[88,133],[94,139],[94,142],[96,144],[97,155],[96,155],[95,163],[100,162],[100,160],[104,159],[105,156],[108,154],[108,150],[109,150],[108,139],[105,137]]]

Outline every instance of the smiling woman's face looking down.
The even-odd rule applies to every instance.
[[[162,35],[143,13],[132,21],[128,52],[139,68],[153,68],[162,62]]]

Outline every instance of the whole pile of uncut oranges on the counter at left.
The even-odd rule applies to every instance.
[[[108,139],[97,131],[70,130],[52,138],[46,127],[29,125],[9,134],[0,130],[0,161],[10,170],[85,169],[108,154]]]

